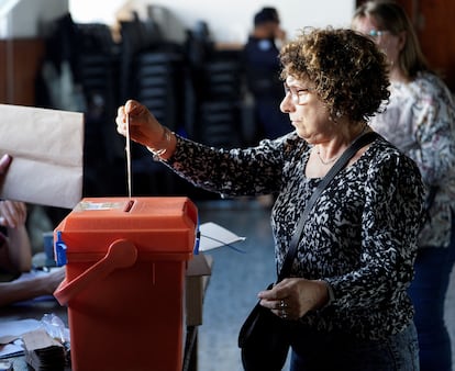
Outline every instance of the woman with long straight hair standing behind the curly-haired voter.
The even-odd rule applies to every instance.
[[[390,66],[389,103],[370,125],[417,162],[426,187],[429,217],[419,235],[409,294],[415,307],[421,371],[450,371],[444,303],[455,258],[455,102],[429,68],[399,4],[365,2],[354,14],[353,29],[371,37]]]

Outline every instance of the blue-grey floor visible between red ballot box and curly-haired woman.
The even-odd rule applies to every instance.
[[[215,222],[246,237],[235,244],[244,254],[229,247],[211,252],[213,271],[199,329],[198,370],[240,371],[238,328],[255,304],[256,293],[275,277],[269,211],[255,201],[200,202],[198,207],[201,223]],[[446,301],[446,319],[455,339],[455,272]]]

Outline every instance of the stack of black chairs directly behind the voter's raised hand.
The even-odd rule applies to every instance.
[[[185,128],[185,64],[182,46],[162,36],[153,20],[122,22],[120,95],[147,106],[171,131]],[[175,178],[143,146],[131,144],[135,194],[176,193]]]

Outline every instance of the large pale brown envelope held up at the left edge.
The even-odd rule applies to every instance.
[[[0,198],[73,209],[82,196],[84,114],[0,104]]]

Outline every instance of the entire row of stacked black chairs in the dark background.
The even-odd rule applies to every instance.
[[[240,144],[240,55],[215,50],[204,22],[180,43],[166,40],[153,16],[140,20],[133,14],[121,22],[121,38],[115,43],[108,25],[75,24],[68,14],[57,23],[47,49],[56,66],[70,63],[81,88],[85,196],[126,194],[125,143],[114,119],[116,108],[129,99],[141,101],[160,123],[190,139],[223,147]],[[209,196],[154,161],[143,146],[131,143],[131,149],[133,194]]]

